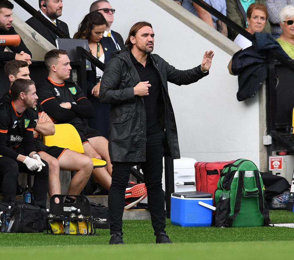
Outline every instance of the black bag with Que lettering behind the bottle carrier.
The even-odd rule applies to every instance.
[[[94,228],[109,228],[108,208],[100,203],[91,202],[91,215]]]

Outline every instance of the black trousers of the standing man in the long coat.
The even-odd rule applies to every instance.
[[[148,209],[154,235],[164,232],[164,192],[162,190],[164,132],[146,138],[146,161],[141,163],[148,195]],[[111,186],[108,194],[110,234],[122,233],[125,190],[130,178],[132,162],[112,162]],[[138,230],[138,232],[140,232]]]

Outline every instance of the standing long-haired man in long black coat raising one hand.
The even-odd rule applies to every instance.
[[[126,51],[107,63],[99,99],[111,103],[109,153],[112,181],[108,195],[110,244],[122,244],[124,189],[133,163],[141,163],[148,208],[156,243],[171,243],[165,232],[162,159],[164,152],[179,159],[175,116],[168,96],[168,81],[187,85],[208,75],[213,51],[205,51],[202,64],[177,70],[153,51],[151,24],[138,22],[130,29]]]

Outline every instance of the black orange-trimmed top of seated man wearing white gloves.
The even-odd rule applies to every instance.
[[[0,154],[16,160],[19,153],[13,151],[25,146],[25,155],[35,151],[33,144],[34,119],[32,109],[18,113],[13,102],[0,104]]]

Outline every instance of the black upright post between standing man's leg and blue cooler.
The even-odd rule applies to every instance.
[[[174,160],[171,157],[164,157],[164,177],[166,217],[171,218],[171,194],[175,192]]]

